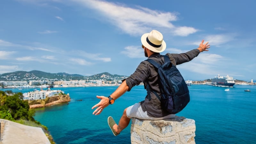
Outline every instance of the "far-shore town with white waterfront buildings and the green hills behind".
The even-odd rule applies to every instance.
[[[93,76],[69,75],[66,73],[50,74],[40,71],[13,72],[0,76],[0,88],[116,86],[121,84],[122,80],[127,77],[111,75],[106,72]]]

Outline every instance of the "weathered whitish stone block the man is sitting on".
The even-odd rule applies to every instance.
[[[151,121],[132,118],[132,144],[195,144],[195,120],[183,116]]]

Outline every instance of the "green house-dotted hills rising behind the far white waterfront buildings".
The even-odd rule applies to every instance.
[[[29,80],[52,80],[52,81],[64,81],[64,80],[105,80],[112,81],[114,79],[120,80],[128,76],[111,75],[107,72],[92,75],[82,76],[78,74],[67,73],[47,73],[39,70],[32,71],[16,71],[11,73],[4,73],[0,75],[0,81],[29,81]]]

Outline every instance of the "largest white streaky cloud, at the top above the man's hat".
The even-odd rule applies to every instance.
[[[130,35],[141,35],[152,28],[164,28],[175,35],[188,36],[197,30],[192,27],[175,27],[171,21],[178,20],[177,13],[161,12],[140,7],[131,8],[124,4],[115,4],[99,0],[74,0],[79,4],[101,13],[110,23]]]

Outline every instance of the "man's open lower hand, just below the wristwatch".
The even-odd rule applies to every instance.
[[[100,99],[100,102],[92,107],[92,109],[96,108],[92,113],[93,115],[99,115],[103,111],[103,108],[106,108],[109,105],[109,99],[107,97],[98,95],[96,97]]]

